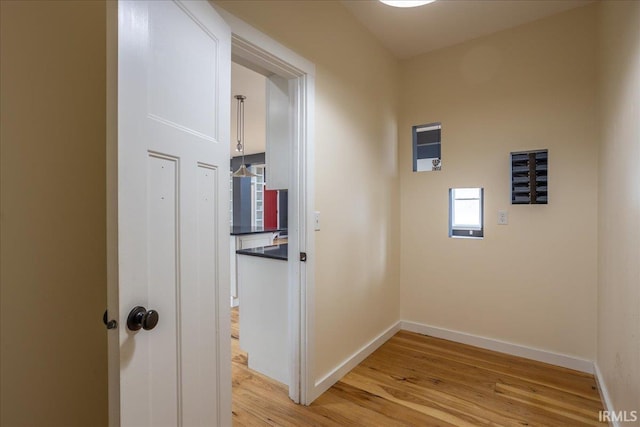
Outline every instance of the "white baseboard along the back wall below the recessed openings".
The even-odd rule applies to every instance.
[[[487,350],[498,351],[501,353],[511,354],[513,356],[525,357],[527,359],[537,360],[538,362],[550,363],[564,368],[574,369],[588,374],[594,373],[593,362],[566,354],[553,353],[532,347],[526,347],[519,344],[513,344],[506,341],[500,341],[492,338],[486,338],[478,335],[467,334],[464,332],[452,331],[449,329],[439,328],[436,326],[424,325],[422,323],[400,321],[400,329],[410,332],[416,332],[423,335],[429,335],[436,338],[442,338],[449,341],[455,341],[462,344],[468,344]]]

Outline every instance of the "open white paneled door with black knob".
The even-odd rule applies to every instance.
[[[228,426],[230,30],[206,1],[109,7],[110,424]]]

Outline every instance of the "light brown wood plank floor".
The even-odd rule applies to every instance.
[[[234,426],[604,426],[592,375],[398,332],[311,406],[247,368],[232,310]]]

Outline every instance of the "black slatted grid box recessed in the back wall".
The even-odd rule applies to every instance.
[[[511,153],[511,204],[546,205],[549,150]]]

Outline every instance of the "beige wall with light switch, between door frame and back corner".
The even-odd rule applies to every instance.
[[[399,318],[397,64],[339,2],[216,3],[316,65],[318,379]]]

